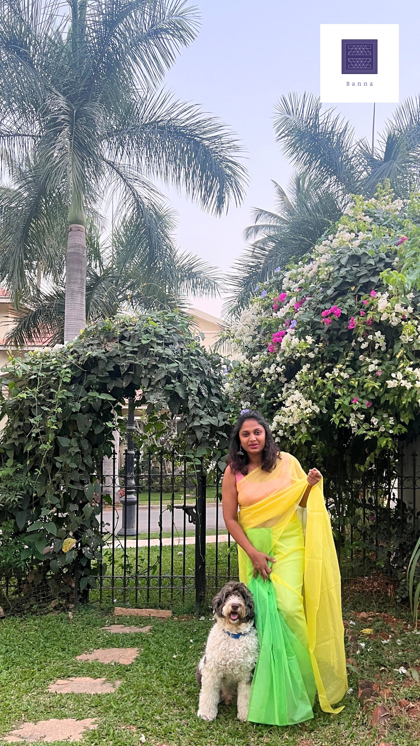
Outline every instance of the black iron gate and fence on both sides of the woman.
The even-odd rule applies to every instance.
[[[401,458],[363,473],[343,462],[325,474],[343,581],[375,573],[391,580],[404,576],[420,533],[415,454],[411,461],[408,471]],[[165,451],[132,451],[127,464],[131,471],[99,477],[108,483],[102,490],[99,598],[198,609],[238,575],[236,545],[222,516],[222,472],[209,460]]]

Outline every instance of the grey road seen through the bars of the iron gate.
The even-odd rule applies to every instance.
[[[206,506],[206,530],[216,530],[216,505],[208,504]],[[116,508],[115,510],[115,527],[114,527],[114,533],[117,533],[119,531],[119,528],[121,527],[122,523],[122,509]],[[150,508],[150,533],[158,533],[159,532],[159,517],[160,517],[160,507],[157,506],[151,506]],[[187,531],[194,530],[194,524],[188,522],[188,515],[185,517],[185,529]],[[113,531],[113,511],[111,508],[104,510],[103,515],[104,520],[104,530],[109,531],[112,533]],[[176,507],[174,510],[174,524],[175,524],[175,534],[178,533],[182,536],[184,534],[184,511],[181,510],[181,507]],[[162,513],[162,530],[163,531],[171,531],[172,530],[172,515],[169,512],[169,510],[163,510]],[[145,505],[139,507],[139,533],[148,533],[148,506]],[[226,533],[226,527],[225,527],[225,521],[223,520],[222,515],[222,506],[219,505],[219,532],[220,533]]]

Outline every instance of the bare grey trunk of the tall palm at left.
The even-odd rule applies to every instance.
[[[86,326],[86,232],[83,225],[69,225],[66,252],[66,304],[64,342],[75,339]]]

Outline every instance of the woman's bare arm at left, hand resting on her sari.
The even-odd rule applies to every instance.
[[[231,467],[226,468],[222,482],[222,509],[225,526],[233,539],[242,547],[243,551],[248,554],[249,559],[254,567],[254,577],[260,573],[263,580],[269,580],[271,569],[268,562],[275,562],[274,557],[269,554],[257,551],[246,538],[245,532],[239,526],[238,521],[238,491],[236,489],[236,477]]]

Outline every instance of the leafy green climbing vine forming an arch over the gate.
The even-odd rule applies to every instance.
[[[225,447],[221,360],[189,325],[172,312],[124,316],[10,359],[0,400],[0,569],[14,557],[71,583],[78,573],[81,590],[95,585],[102,539],[94,475],[111,453],[125,398],[145,406],[145,438],[175,421],[178,445],[198,454],[210,442]]]

